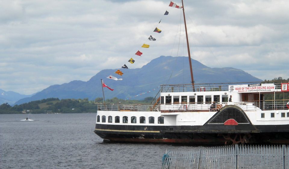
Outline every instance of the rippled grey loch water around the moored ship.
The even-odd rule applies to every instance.
[[[95,121],[96,113],[0,115],[0,168],[161,168],[165,149],[199,149],[104,143]]]

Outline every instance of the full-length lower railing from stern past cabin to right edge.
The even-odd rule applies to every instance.
[[[257,100],[245,102],[200,102],[200,103],[169,103],[157,105],[142,104],[104,104],[98,103],[98,110],[103,111],[168,111],[168,112],[191,112],[191,111],[219,111],[224,106],[239,106],[244,111],[256,110],[287,110],[289,100]]]

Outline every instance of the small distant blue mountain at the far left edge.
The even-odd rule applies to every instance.
[[[19,94],[14,91],[4,91],[0,89],[0,105],[3,103],[8,103],[9,105],[13,105],[20,99],[31,97],[32,95],[24,95]]]

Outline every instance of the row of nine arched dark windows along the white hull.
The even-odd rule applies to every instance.
[[[107,122],[112,123],[112,121],[113,121],[112,116],[108,116]],[[96,122],[100,122],[100,116],[99,115],[97,116]],[[101,116],[101,122],[102,123],[106,122],[106,116],[105,115]],[[135,116],[132,116],[130,118],[130,122],[131,123],[137,123],[137,118]],[[120,116],[114,117],[114,123],[120,123]],[[123,116],[123,123],[128,123],[128,117],[127,116]],[[145,117],[144,116],[139,117],[139,123],[145,124]],[[148,117],[148,123],[154,124],[154,117],[153,116]],[[157,118],[157,124],[163,124],[163,123],[164,123],[164,118],[161,116],[158,117]]]

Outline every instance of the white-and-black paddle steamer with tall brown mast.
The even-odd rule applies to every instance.
[[[191,68],[189,45],[188,55]],[[289,93],[288,81],[194,84],[192,69],[191,81],[161,85],[151,105],[98,104],[95,134],[112,142],[289,143],[289,100],[277,97]]]

